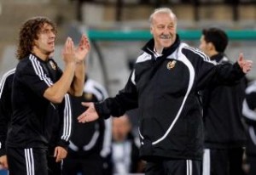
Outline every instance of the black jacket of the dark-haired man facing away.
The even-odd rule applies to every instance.
[[[211,60],[218,64],[230,64],[224,54],[216,54]],[[242,78],[233,86],[210,84],[203,91],[205,148],[228,149],[245,145],[246,133],[241,121],[245,89],[246,79]]]

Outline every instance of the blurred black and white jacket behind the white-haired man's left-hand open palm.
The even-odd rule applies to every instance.
[[[85,80],[84,93],[81,97],[71,97],[73,106],[73,133],[68,147],[68,158],[89,159],[89,157],[102,155],[106,157],[111,151],[112,122],[111,119],[102,118],[79,123],[78,116],[84,111],[81,102],[99,102],[108,97],[105,88],[92,79]]]

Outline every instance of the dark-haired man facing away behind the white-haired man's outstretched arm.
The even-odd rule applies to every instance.
[[[224,54],[228,36],[219,28],[202,31],[201,50],[217,64],[230,64]],[[242,175],[242,156],[246,142],[241,108],[246,78],[233,86],[212,85],[202,91],[204,121],[203,175]]]

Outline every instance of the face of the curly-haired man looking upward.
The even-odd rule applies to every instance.
[[[48,23],[44,23],[38,31],[38,39],[34,41],[32,53],[40,59],[47,59],[55,51],[55,28]]]

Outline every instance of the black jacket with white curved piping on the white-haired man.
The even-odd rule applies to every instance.
[[[125,88],[96,104],[99,116],[122,116],[138,108],[140,155],[144,160],[201,160],[203,122],[198,92],[208,83],[244,76],[238,64],[214,65],[201,51],[176,41],[161,56],[154,40],[143,47]]]

